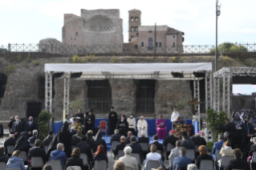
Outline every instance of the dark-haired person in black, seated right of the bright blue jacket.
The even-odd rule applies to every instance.
[[[81,152],[79,148],[75,148],[72,152],[72,157],[67,159],[67,163],[66,163],[66,168],[71,167],[71,166],[78,166],[80,167],[82,170],[85,170],[84,166],[83,166],[83,159],[80,158]]]

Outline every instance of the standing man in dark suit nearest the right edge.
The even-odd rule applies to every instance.
[[[242,144],[241,151],[244,152],[244,148],[250,142],[250,135],[254,133],[254,127],[245,119],[245,123],[242,123]]]

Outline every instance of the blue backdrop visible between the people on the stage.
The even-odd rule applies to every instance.
[[[108,122],[108,119],[104,119],[104,118],[95,119],[95,128],[100,126],[101,120],[105,120]],[[139,119],[136,119],[136,123],[138,122],[138,120]],[[147,122],[148,122],[148,136],[156,135],[156,119],[145,119],[145,120],[147,120]],[[167,135],[168,135],[169,131],[172,130],[172,123],[170,122],[170,119],[165,119],[165,122],[167,124]],[[63,121],[55,123],[55,130],[54,130],[55,134],[57,134],[59,132],[59,130],[61,129],[62,123],[63,123]],[[192,119],[186,119],[186,123],[193,124],[192,134],[194,135],[195,132],[198,131],[198,123],[197,122],[193,123]],[[108,128],[108,131],[109,131],[109,128]],[[109,134],[109,132],[108,132],[108,134]]]

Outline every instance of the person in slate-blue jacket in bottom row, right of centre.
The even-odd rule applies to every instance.
[[[191,159],[185,156],[187,150],[183,147],[180,148],[180,156],[174,158],[173,160],[173,170],[178,170],[180,167],[187,167],[188,164],[191,164]]]

